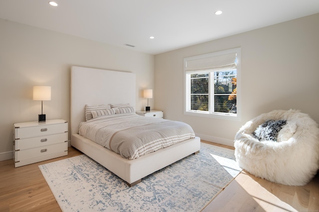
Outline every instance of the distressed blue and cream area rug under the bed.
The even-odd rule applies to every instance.
[[[131,188],[86,155],[39,168],[63,212],[199,212],[241,171],[233,150],[206,143]]]

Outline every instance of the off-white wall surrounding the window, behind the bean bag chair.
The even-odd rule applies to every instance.
[[[319,14],[155,56],[156,108],[207,141],[233,145],[261,113],[300,109],[319,123]],[[213,27],[213,26],[212,26]],[[183,115],[183,58],[241,47],[241,121]]]

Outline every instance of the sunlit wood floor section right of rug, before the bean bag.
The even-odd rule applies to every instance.
[[[241,172],[202,212],[319,211],[319,176],[305,186],[286,186]]]

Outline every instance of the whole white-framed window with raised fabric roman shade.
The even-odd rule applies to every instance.
[[[240,119],[240,48],[184,58],[184,114]]]

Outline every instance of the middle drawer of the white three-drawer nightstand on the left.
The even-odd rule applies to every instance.
[[[27,139],[20,139],[15,140],[15,149],[14,150],[22,150],[37,146],[45,146],[45,145],[51,145],[54,143],[61,143],[68,140],[68,134],[67,133],[59,133],[59,134],[53,134],[53,135],[45,135],[45,136],[39,136],[39,137],[33,137],[33,138],[27,138]]]

